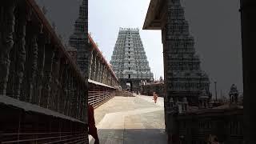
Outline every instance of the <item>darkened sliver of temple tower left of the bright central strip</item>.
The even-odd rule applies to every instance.
[[[74,23],[74,34],[70,36],[69,45],[77,50],[77,63],[82,74],[88,78],[88,0],[82,0],[79,16]]]

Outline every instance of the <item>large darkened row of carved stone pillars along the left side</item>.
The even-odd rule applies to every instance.
[[[0,2],[0,95],[86,122],[87,83],[34,0]]]

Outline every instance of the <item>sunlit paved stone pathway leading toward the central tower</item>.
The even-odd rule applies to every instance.
[[[163,98],[152,98],[114,97],[95,109],[100,144],[166,144]]]

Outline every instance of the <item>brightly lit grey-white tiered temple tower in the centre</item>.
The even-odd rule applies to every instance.
[[[153,81],[138,28],[120,28],[110,64],[122,89],[128,85],[128,89],[138,92],[141,81]]]

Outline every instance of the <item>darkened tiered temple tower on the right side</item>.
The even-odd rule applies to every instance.
[[[182,102],[186,98],[190,105],[198,106],[198,97],[202,90],[211,97],[210,81],[200,68],[200,59],[195,54],[194,38],[190,35],[189,24],[179,0],[172,0],[170,17],[167,18],[167,37],[170,50],[166,54],[166,93],[174,102]]]

